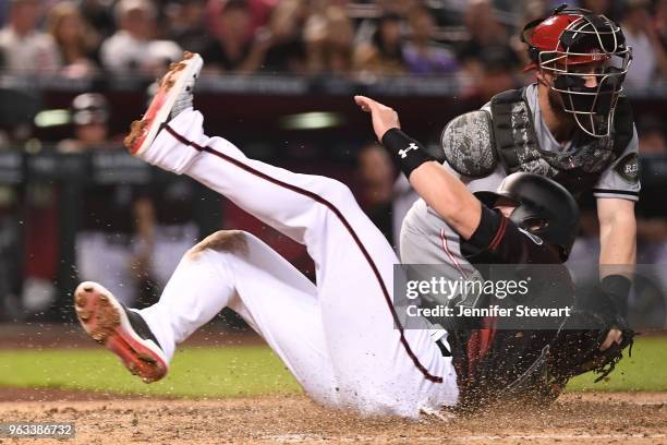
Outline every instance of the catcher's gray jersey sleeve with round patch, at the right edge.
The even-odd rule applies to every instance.
[[[633,130],[632,140],[624,152],[599,177],[593,188],[597,199],[618,197],[639,201],[641,190],[639,171],[639,137]]]

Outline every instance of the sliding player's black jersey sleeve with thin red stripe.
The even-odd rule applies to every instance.
[[[520,230],[500,214],[482,205],[480,226],[461,253],[471,264],[560,264],[558,250],[539,237]]]

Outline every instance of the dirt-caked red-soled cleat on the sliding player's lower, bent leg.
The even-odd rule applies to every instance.
[[[78,285],[74,308],[86,333],[116,353],[132,374],[146,383],[167,375],[167,357],[146,321],[104,286],[94,281]]]

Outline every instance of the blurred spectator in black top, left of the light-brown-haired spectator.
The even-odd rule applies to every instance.
[[[269,22],[269,47],[264,58],[267,72],[305,72],[306,49],[303,29],[308,17],[306,0],[281,0]]]

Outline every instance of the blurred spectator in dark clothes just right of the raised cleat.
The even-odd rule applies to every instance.
[[[214,20],[216,35],[202,55],[206,70],[250,74],[259,69],[269,41],[264,33],[252,32],[251,20],[247,1],[229,0],[225,3]]]

